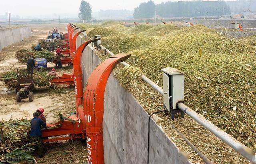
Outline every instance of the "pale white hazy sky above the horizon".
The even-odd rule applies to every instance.
[[[107,9],[134,10],[141,2],[148,0],[87,0],[92,11]],[[154,0],[156,4],[168,0]],[[0,15],[10,11],[13,15],[38,16],[44,14],[78,13],[81,0],[0,0]]]

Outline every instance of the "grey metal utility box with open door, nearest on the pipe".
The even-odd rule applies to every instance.
[[[172,67],[163,71],[164,106],[171,111],[172,119],[175,113],[181,112],[176,108],[178,102],[184,101],[184,73]],[[182,113],[183,117],[184,113]]]

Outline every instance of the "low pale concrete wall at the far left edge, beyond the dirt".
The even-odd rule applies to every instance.
[[[8,45],[22,41],[24,38],[29,38],[30,36],[30,27],[0,30],[0,51]]]

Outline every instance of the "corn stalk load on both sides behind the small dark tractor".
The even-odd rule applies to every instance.
[[[22,77],[28,77],[27,71],[21,72]],[[34,85],[38,87],[50,87],[51,76],[47,75],[46,72],[34,71],[32,74],[34,79]],[[18,74],[16,71],[8,71],[0,74],[0,80],[4,82],[4,85],[8,87],[9,90],[14,90],[18,83]]]

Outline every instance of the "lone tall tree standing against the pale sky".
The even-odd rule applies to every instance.
[[[78,14],[79,18],[82,20],[91,20],[92,19],[92,8],[90,4],[84,0],[81,0],[80,12]]]

